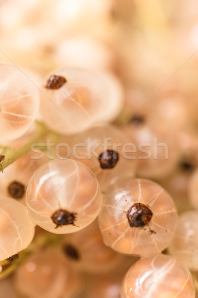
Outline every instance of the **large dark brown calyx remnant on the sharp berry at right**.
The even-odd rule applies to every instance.
[[[135,203],[127,211],[127,219],[131,227],[145,226],[152,217],[152,211],[142,203]]]

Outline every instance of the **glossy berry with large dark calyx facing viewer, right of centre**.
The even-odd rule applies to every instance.
[[[178,220],[171,196],[146,179],[128,179],[104,196],[99,226],[104,243],[114,250],[146,256],[170,243]]]

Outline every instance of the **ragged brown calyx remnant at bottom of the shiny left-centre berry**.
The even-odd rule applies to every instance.
[[[59,209],[52,214],[51,220],[56,224],[55,228],[58,228],[62,225],[74,224],[76,219],[74,213]]]

